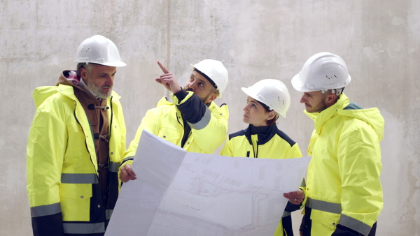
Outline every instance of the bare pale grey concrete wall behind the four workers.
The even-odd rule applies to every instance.
[[[229,105],[229,133],[246,127],[240,87],[276,78],[292,97],[279,127],[306,153],[313,124],[290,79],[312,54],[339,54],[353,78],[347,96],[379,108],[386,121],[377,235],[419,235],[418,0],[0,0],[0,235],[31,235],[25,189],[31,92],[75,68],[78,45],[94,34],[111,38],[127,63],[118,68],[115,90],[123,96],[129,142],[146,110],[167,96],[154,81],[157,60],[184,84],[190,64],[218,59],[230,74],[216,100]],[[300,215],[293,219],[297,226]]]

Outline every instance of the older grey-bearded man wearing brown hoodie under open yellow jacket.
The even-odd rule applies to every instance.
[[[34,235],[104,235],[120,182],[125,121],[113,91],[125,66],[104,36],[83,40],[77,71],[34,91],[27,146],[27,192]]]

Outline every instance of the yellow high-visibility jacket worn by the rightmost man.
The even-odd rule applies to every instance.
[[[330,108],[305,112],[315,126],[306,189],[311,235],[352,235],[351,230],[367,235],[383,208],[384,118],[377,108],[359,108],[341,94]]]

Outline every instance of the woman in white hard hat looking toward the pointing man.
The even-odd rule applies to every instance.
[[[290,106],[287,87],[279,80],[260,80],[248,88],[241,88],[248,95],[243,121],[248,128],[232,133],[226,140],[221,155],[251,158],[301,157],[299,146],[276,126],[276,119],[286,117]],[[302,198],[294,198],[300,209]],[[288,207],[286,207],[288,209]],[[290,212],[284,212],[274,235],[293,235]]]

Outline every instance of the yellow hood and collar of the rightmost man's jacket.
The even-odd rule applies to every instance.
[[[331,117],[337,115],[353,117],[365,121],[372,126],[377,133],[379,141],[384,138],[384,117],[382,117],[378,108],[363,109],[357,103],[350,103],[349,98],[343,93],[340,95],[337,103],[323,110],[322,112],[304,113],[315,121],[314,126],[317,133],[321,131],[321,126]]]

